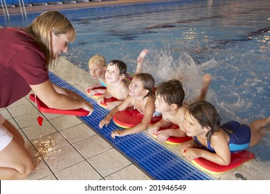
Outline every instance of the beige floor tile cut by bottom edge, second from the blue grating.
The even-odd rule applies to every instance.
[[[60,180],[98,180],[102,178],[87,161],[81,161],[78,164],[64,168],[55,175]]]

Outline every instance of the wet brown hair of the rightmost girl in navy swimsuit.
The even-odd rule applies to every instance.
[[[206,101],[199,101],[188,106],[188,112],[199,122],[201,127],[210,128],[206,136],[207,140],[211,142],[211,135],[220,129],[220,117],[215,107]]]

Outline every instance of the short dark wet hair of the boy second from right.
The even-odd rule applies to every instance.
[[[176,104],[181,107],[185,98],[185,91],[183,91],[182,83],[179,80],[172,79],[161,83],[156,88],[156,96],[163,98],[168,105]]]

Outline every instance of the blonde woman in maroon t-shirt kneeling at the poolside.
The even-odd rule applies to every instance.
[[[82,108],[91,114],[91,103],[48,78],[48,67],[68,51],[75,36],[69,19],[55,10],[43,12],[26,28],[0,28],[0,108],[32,89],[48,107]],[[33,168],[23,137],[0,114],[0,179],[24,179]]]

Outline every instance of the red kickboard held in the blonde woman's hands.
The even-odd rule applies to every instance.
[[[35,94],[30,94],[30,100],[35,103]],[[89,111],[85,109],[51,109],[45,105],[42,100],[37,97],[37,108],[40,112],[51,113],[51,114],[66,114],[75,116],[87,116]]]

